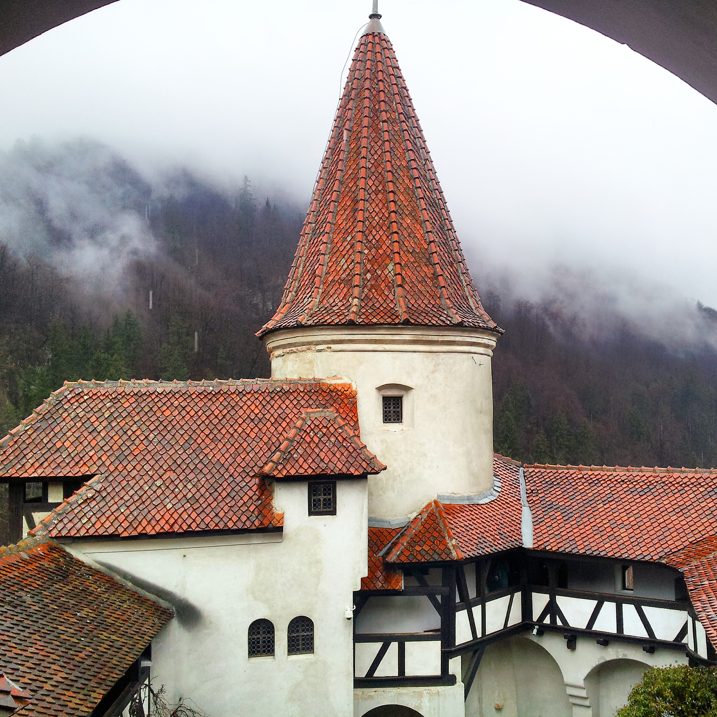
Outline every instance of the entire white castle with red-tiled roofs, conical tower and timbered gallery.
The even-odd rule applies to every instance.
[[[151,680],[210,717],[608,717],[717,663],[717,472],[493,455],[502,331],[380,20],[272,378],[67,383],[0,442],[0,714],[127,715]]]

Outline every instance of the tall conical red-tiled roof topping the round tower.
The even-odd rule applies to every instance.
[[[276,328],[501,330],[483,309],[388,37],[353,55]]]

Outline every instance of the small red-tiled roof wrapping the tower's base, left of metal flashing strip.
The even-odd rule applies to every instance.
[[[495,455],[493,470],[496,498],[473,505],[432,500],[386,549],[386,561],[462,560],[522,546],[520,465]]]

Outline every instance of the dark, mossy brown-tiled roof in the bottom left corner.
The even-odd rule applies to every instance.
[[[52,541],[0,549],[0,673],[30,692],[18,716],[89,715],[172,617]]]

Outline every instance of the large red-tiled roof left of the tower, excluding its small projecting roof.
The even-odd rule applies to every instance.
[[[0,476],[99,474],[36,534],[277,528],[257,472],[310,409],[333,411],[358,440],[356,391],[338,381],[68,383],[0,441]]]

